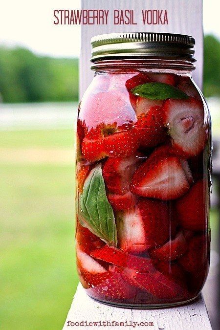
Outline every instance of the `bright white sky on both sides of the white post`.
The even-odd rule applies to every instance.
[[[53,10],[80,8],[80,0],[7,0],[0,6],[0,44],[24,46],[40,55],[79,56],[80,26],[54,25]],[[217,6],[217,0],[203,0],[203,26],[205,34],[220,38]]]

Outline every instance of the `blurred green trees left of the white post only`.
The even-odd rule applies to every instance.
[[[3,102],[77,101],[78,59],[1,47],[0,95]]]

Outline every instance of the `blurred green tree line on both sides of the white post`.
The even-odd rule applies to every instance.
[[[204,37],[204,95],[220,96],[220,41]],[[0,47],[0,99],[5,103],[78,101],[78,59],[43,57]]]

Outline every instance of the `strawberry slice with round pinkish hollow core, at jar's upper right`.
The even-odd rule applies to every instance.
[[[168,99],[163,103],[164,126],[169,129],[173,147],[185,157],[199,154],[205,145],[204,110],[201,101]]]

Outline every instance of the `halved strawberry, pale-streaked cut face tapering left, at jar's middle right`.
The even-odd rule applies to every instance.
[[[133,194],[167,200],[187,192],[190,185],[181,161],[168,150],[168,146],[156,149],[134,172],[130,184]]]

